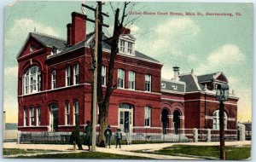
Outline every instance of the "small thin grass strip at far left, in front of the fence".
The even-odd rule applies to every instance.
[[[19,148],[3,148],[3,155],[15,155],[26,153],[51,153],[52,150],[39,150],[39,149],[19,149]],[[54,151],[58,152],[58,151]]]

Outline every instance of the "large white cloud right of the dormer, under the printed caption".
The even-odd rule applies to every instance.
[[[197,42],[200,31],[200,26],[188,17],[173,18],[156,26],[155,37],[150,42],[143,40],[140,49],[147,55],[185,55],[193,43]]]

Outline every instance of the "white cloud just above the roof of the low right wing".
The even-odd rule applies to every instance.
[[[224,69],[230,69],[237,67],[241,62],[245,61],[245,56],[241,53],[236,44],[224,44],[223,46],[215,49],[208,55],[207,60],[199,67],[197,67],[197,72],[212,72],[223,71]]]

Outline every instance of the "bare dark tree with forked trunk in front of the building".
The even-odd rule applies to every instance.
[[[116,89],[116,86],[113,85],[113,69],[114,69],[114,63],[116,55],[119,52],[119,36],[122,34],[122,30],[124,27],[124,23],[132,23],[133,20],[125,21],[125,18],[127,18],[128,14],[126,13],[126,9],[130,2],[125,2],[123,5],[123,12],[119,19],[119,8],[115,9],[114,11],[114,26],[113,26],[113,36],[111,38],[108,38],[108,40],[104,40],[111,46],[111,53],[108,58],[108,79],[107,79],[107,86],[106,90],[102,90],[102,16],[100,16],[100,25],[98,27],[99,29],[99,44],[98,44],[98,77],[97,77],[97,102],[99,107],[99,116],[100,116],[100,130],[99,130],[99,145],[101,147],[104,146],[105,143],[105,137],[104,137],[104,130],[107,127],[108,124],[108,106],[110,101],[110,96],[113,93],[113,90]],[[113,6],[110,3],[112,9]],[[132,7],[134,4],[130,4]],[[102,12],[102,2],[98,2],[99,12]],[[101,14],[100,14],[101,15]],[[127,23],[127,24],[128,24]],[[127,25],[126,24],[126,25]],[[104,93],[103,93],[104,92]]]

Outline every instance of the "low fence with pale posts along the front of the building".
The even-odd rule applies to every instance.
[[[225,130],[225,141],[236,141],[237,130]],[[18,132],[20,143],[69,143],[71,132]],[[80,132],[83,139],[84,133]],[[114,141],[114,131],[111,137]],[[210,129],[168,129],[166,134],[159,128],[133,128],[131,132],[123,132],[123,142],[211,142],[219,141],[219,131]]]

